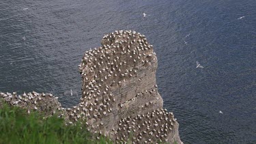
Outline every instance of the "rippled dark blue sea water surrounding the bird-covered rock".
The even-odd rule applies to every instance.
[[[154,45],[159,91],[184,143],[256,143],[255,0],[0,0],[0,91],[76,104],[83,54],[118,29]]]

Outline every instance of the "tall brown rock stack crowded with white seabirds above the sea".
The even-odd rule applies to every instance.
[[[56,101],[53,112],[61,110],[59,115],[68,124],[86,120],[89,131],[120,143],[182,143],[173,113],[162,109],[156,85],[156,53],[145,36],[135,31],[115,31],[104,35],[101,44],[87,51],[79,65],[81,102],[71,109],[61,109]],[[30,103],[37,104],[33,100]]]

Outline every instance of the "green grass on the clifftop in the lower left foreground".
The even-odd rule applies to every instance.
[[[81,127],[83,129],[81,129]],[[8,143],[111,143],[100,140],[86,130],[85,125],[66,126],[56,115],[43,119],[43,116],[4,104],[0,109],[0,144]]]

